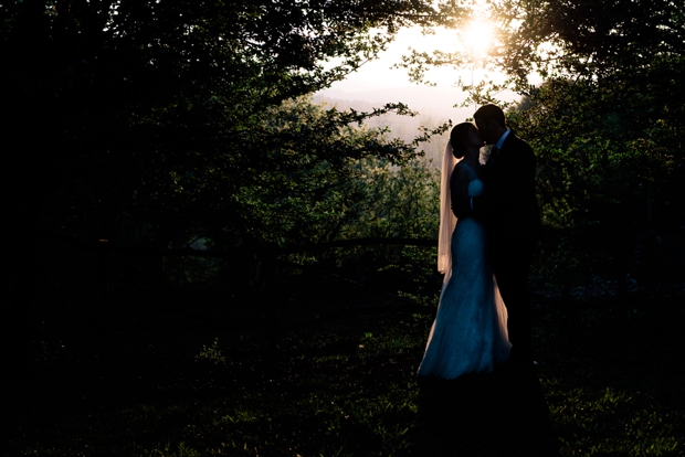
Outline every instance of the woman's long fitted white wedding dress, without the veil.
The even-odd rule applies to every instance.
[[[466,164],[457,167],[466,167],[471,181],[476,180]],[[460,217],[451,237],[451,268],[418,375],[455,379],[492,371],[508,359],[506,308],[485,249],[483,224],[474,216]]]

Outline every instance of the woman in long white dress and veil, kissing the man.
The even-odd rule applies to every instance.
[[[438,269],[445,277],[419,376],[492,371],[509,357],[507,311],[486,255],[483,223],[472,210],[472,199],[483,192],[483,145],[475,126],[463,123],[445,147],[438,247]]]

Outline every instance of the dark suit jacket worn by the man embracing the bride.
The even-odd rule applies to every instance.
[[[484,216],[491,246],[530,245],[539,238],[535,172],[533,148],[513,131],[488,157],[483,169],[485,193],[476,210]]]

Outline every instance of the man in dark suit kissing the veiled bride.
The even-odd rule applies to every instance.
[[[473,117],[481,138],[493,145],[483,169],[486,192],[475,202],[475,210],[485,220],[493,272],[507,307],[512,361],[533,365],[527,286],[540,235],[535,153],[507,128],[498,106],[482,106]]]

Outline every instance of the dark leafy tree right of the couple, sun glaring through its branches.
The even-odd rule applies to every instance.
[[[624,222],[619,213],[631,211],[645,220],[646,200],[657,193],[668,208],[664,222],[681,213],[676,195],[682,193],[673,185],[682,181],[684,159],[676,138],[683,134],[678,119],[685,102],[678,88],[685,72],[683,7],[555,1],[544,3],[541,14],[533,3],[518,7],[503,12],[510,20],[517,12],[519,26],[505,35],[509,52],[498,61],[533,107],[519,126],[540,149],[570,159],[575,180],[586,180],[575,187],[587,195],[576,212],[593,213],[590,220],[614,214]],[[526,87],[534,71],[546,82]],[[597,202],[603,208],[592,208]],[[619,206],[607,211],[610,203]]]

